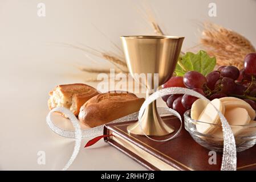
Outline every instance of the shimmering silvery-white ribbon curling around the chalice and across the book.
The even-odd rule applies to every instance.
[[[165,89],[158,90],[157,92],[151,94],[151,96],[149,96],[147,98],[147,100],[144,101],[143,105],[140,108],[139,113],[133,113],[133,114],[127,115],[123,118],[116,119],[115,121],[112,121],[112,123],[132,121],[132,120],[135,120],[135,119],[139,119],[139,123],[140,123],[140,127],[141,127],[141,117],[142,117],[146,107],[149,104],[151,104],[153,101],[155,101],[157,98],[162,97],[162,96],[166,96],[166,95],[169,95],[169,94],[188,94],[190,96],[202,98],[202,99],[210,102],[206,97],[202,96],[200,93],[195,92],[195,91],[190,90],[190,89],[175,88],[175,87],[165,88]],[[226,118],[224,117],[224,115],[215,106],[214,106],[214,108],[217,110],[218,115],[220,116],[222,131],[224,133],[224,149],[223,149],[221,170],[222,171],[234,171],[237,168],[237,151],[236,151],[236,148],[235,148],[234,135],[233,135],[232,130],[229,126],[229,123],[227,123]],[[160,114],[176,115],[176,117],[178,117],[181,121],[180,114],[178,114],[177,111],[175,111],[173,109],[158,108],[157,110],[159,111]],[[75,131],[66,131],[66,130],[60,129],[59,127],[55,126],[54,123],[51,121],[51,114],[54,113],[55,111],[58,111],[60,113],[63,113],[65,115],[67,115],[67,117],[70,118],[70,121],[72,122],[72,125],[75,128]],[[75,138],[74,151],[71,155],[70,160],[68,160],[68,163],[63,168],[63,170],[68,169],[68,167],[71,166],[72,162],[74,162],[74,160],[75,160],[75,158],[78,155],[78,152],[80,150],[82,138],[95,137],[97,135],[102,135],[102,133],[103,133],[103,125],[94,127],[92,129],[81,130],[78,119],[75,117],[75,115],[70,110],[68,110],[64,107],[56,107],[55,109],[52,109],[48,113],[48,115],[46,117],[46,121],[47,121],[47,124],[50,127],[50,129],[52,131],[54,131],[55,133],[57,133],[57,134],[59,134],[63,137]],[[154,140],[156,142],[166,142],[170,139],[173,139],[174,137],[177,137],[177,135],[181,131],[181,128],[182,128],[182,121],[181,121],[180,129],[178,129],[177,133],[174,134],[172,137],[164,139],[164,140],[152,139],[152,138],[148,137],[144,133],[144,131],[143,131],[143,133],[146,137],[148,137],[149,139]],[[142,129],[142,127],[141,127],[141,129]]]

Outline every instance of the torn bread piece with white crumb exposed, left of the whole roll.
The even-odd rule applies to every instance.
[[[80,107],[97,94],[95,88],[86,84],[58,85],[49,93],[48,107],[66,107],[78,116]]]

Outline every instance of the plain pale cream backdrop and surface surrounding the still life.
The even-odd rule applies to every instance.
[[[39,2],[46,5],[46,17],[37,15]],[[208,16],[210,2],[217,4],[217,17]],[[115,52],[109,40],[120,46],[120,35],[153,34],[138,10],[145,4],[153,7],[166,34],[185,36],[184,51],[198,43],[198,24],[206,20],[231,28],[256,45],[255,0],[1,0],[0,169],[46,170],[64,166],[74,140],[48,129],[48,91],[58,84],[85,82],[91,77],[75,65],[105,68],[109,64],[96,58],[91,61],[82,51],[53,43],[85,44]],[[37,163],[40,150],[46,152],[46,165]],[[145,168],[100,141],[88,149],[82,147],[70,169]]]

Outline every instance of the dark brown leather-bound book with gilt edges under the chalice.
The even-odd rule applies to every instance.
[[[176,129],[180,126],[180,121],[174,116],[162,118]],[[134,122],[105,125],[104,134],[114,135],[105,137],[105,142],[150,170],[220,170],[222,153],[216,152],[216,164],[209,164],[210,150],[197,144],[184,128],[178,137],[168,142],[155,142],[145,136],[129,135],[127,126]],[[212,158],[210,161],[213,162]],[[237,153],[237,170],[256,170],[256,146]]]

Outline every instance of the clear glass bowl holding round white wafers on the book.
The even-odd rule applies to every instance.
[[[190,110],[184,113],[184,125],[186,131],[191,137],[201,146],[209,150],[222,152],[223,151],[223,133],[222,126],[212,123],[196,121],[190,118]],[[211,127],[211,132],[208,134],[198,131],[200,127]],[[237,152],[244,151],[253,147],[256,143],[256,121],[249,125],[230,125],[235,137]]]

